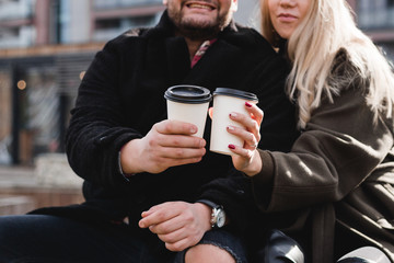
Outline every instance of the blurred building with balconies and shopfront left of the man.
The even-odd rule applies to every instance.
[[[0,164],[63,151],[77,89],[112,37],[155,24],[162,0],[0,0]]]

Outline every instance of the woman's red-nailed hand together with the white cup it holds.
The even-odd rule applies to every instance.
[[[230,155],[235,169],[253,176],[262,169],[256,150],[260,140],[263,111],[256,106],[255,94],[227,88],[213,92],[210,150]]]

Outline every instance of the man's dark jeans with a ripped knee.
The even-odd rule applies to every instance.
[[[247,263],[242,243],[223,230],[208,231],[200,243],[225,249]],[[127,225],[89,225],[48,216],[0,217],[1,263],[183,263],[185,251],[158,254]]]

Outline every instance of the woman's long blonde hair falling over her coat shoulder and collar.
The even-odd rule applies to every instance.
[[[262,33],[278,46],[280,37],[270,22],[267,1],[260,2]],[[346,52],[354,70],[340,77],[332,76],[339,50]],[[386,117],[392,117],[392,69],[372,41],[357,28],[346,0],[311,0],[306,16],[288,39],[287,53],[293,64],[288,77],[288,92],[290,98],[298,100],[302,128],[311,112],[321,104],[323,94],[332,101],[344,83],[350,84],[355,78],[368,84],[367,103],[375,116],[384,112]]]

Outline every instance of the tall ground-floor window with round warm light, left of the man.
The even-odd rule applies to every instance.
[[[16,76],[18,161],[32,164],[40,153],[60,146],[59,94],[56,70],[50,65],[24,66]]]

